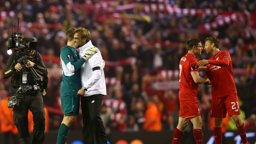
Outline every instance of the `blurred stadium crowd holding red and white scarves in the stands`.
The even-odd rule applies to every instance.
[[[175,12],[161,11],[160,6],[154,9],[161,4],[170,5]],[[191,9],[196,14],[184,13]],[[215,11],[200,13],[204,9]],[[236,19],[220,22],[232,14]],[[17,17],[20,17],[19,31],[23,37],[38,41],[37,51],[48,69],[49,84],[43,98],[49,111],[49,130],[57,130],[62,121],[60,50],[66,45],[65,31],[81,26],[91,31],[91,41],[106,61],[107,96],[101,110],[106,132],[174,130],[179,111],[175,82],[180,58],[187,53],[186,41],[199,38],[204,46],[205,38],[215,36],[220,39],[220,50],[228,50],[233,60],[246,129],[256,129],[255,14],[254,0],[0,0],[1,99],[10,96],[10,79],[4,80],[1,74],[9,58],[7,39],[12,28],[17,31]],[[209,28],[205,23],[218,25]],[[208,58],[205,52],[197,57],[198,60]],[[167,76],[162,75],[165,72]],[[168,75],[169,72],[173,75]],[[157,82],[173,85],[152,88]],[[210,90],[210,86],[198,86],[203,127],[212,129]],[[159,127],[146,127],[152,114],[156,121],[160,119]],[[3,121],[1,118],[0,123]],[[223,124],[226,129],[236,129],[228,117]],[[81,128],[79,116],[71,129]]]

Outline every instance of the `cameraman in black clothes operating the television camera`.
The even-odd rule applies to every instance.
[[[22,70],[28,71],[28,68],[33,67],[37,73],[41,76],[47,76],[48,72],[44,66],[41,55],[35,50],[25,53],[28,57],[33,57],[32,62],[30,60],[18,63],[15,54],[13,53],[8,59],[6,68],[3,72],[3,78],[11,78],[11,95],[16,94],[15,89],[20,86],[20,73]],[[25,63],[26,62],[26,63]],[[36,82],[32,76],[27,74],[27,85],[35,85]],[[23,95],[25,98],[20,99],[18,108],[13,108],[14,112],[14,124],[18,129],[21,144],[42,144],[45,136],[45,111],[42,92],[37,90],[29,90]],[[30,134],[28,132],[28,109],[33,114],[34,129],[33,129],[33,141],[31,142]]]

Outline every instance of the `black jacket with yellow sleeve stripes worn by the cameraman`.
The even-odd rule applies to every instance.
[[[47,76],[48,72],[46,67],[44,66],[42,56],[35,51],[34,55],[34,60],[32,61],[34,64],[34,69],[37,71],[37,73],[41,76]],[[3,78],[8,79],[10,76],[11,78],[11,92],[16,93],[15,89],[20,85],[20,71],[17,71],[14,67],[17,64],[17,58],[15,58],[15,54],[12,54],[10,58],[7,61],[6,68],[3,72]],[[23,64],[22,64],[23,65]],[[22,69],[21,69],[22,70]],[[27,70],[27,68],[26,68]],[[34,85],[35,82],[30,76],[28,76],[28,84],[29,85]]]

